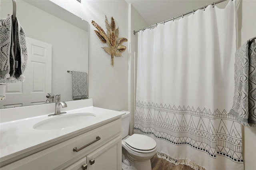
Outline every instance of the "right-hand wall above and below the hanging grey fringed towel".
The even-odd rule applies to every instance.
[[[240,39],[238,44],[243,44],[256,36],[256,0],[242,0],[238,11],[238,31]],[[256,128],[242,127],[243,150],[245,170],[256,168]]]

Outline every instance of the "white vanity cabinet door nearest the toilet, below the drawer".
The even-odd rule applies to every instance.
[[[121,170],[121,136],[87,155],[88,170]]]

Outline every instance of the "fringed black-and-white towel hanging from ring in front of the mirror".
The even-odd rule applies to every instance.
[[[13,30],[12,15],[0,20],[0,83],[24,80],[22,74],[28,59],[26,35],[17,18],[15,24]]]

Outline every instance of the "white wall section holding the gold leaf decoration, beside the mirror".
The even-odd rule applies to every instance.
[[[114,67],[110,65],[111,57],[101,48],[106,46],[100,42],[93,30],[94,20],[105,31],[105,15],[111,22],[111,17],[119,27],[119,38],[128,38],[128,4],[116,0],[51,0],[59,6],[76,14],[89,22],[89,98],[93,99],[95,107],[112,110],[128,109],[128,42],[122,53],[123,57],[114,57]]]

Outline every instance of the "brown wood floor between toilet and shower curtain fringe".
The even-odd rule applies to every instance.
[[[156,155],[151,159],[152,170],[193,170],[186,165],[175,165]]]

